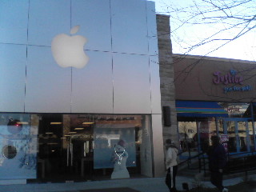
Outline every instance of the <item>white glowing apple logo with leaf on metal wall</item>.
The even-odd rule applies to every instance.
[[[80,26],[74,26],[70,30],[70,34],[76,34],[79,28]],[[74,66],[81,69],[86,66],[89,61],[88,56],[83,50],[86,42],[87,39],[82,35],[56,35],[51,42],[51,51],[55,62],[62,67]]]

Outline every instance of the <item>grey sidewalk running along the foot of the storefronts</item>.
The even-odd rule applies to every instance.
[[[256,177],[255,175],[251,175]],[[230,178],[223,181],[224,186],[233,186],[242,182],[242,178]],[[182,190],[182,182],[187,182],[190,189],[195,184],[193,178],[178,176],[176,178],[177,190]],[[210,182],[201,182],[203,186],[213,188]],[[71,183],[41,183],[0,186],[0,192],[81,192],[81,190],[126,188],[140,192],[167,192],[165,178],[130,178],[95,182],[71,182]],[[121,191],[120,191],[121,192]]]

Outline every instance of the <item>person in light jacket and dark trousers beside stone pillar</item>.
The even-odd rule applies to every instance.
[[[170,192],[176,192],[176,174],[178,171],[178,148],[170,139],[166,139],[166,186]]]

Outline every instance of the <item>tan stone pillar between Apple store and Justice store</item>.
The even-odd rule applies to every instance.
[[[174,65],[170,41],[170,17],[157,14],[158,51],[162,106],[170,106],[171,126],[164,126],[163,141],[171,138],[178,145],[177,114],[175,109]]]

